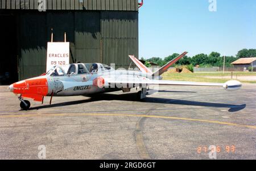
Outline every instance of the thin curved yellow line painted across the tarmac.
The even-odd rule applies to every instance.
[[[85,114],[17,114],[17,115],[0,115],[0,118],[20,118],[20,117],[57,117],[57,116],[117,116],[117,117],[145,117],[145,118],[159,118],[159,119],[174,119],[181,121],[195,121],[195,122],[206,122],[206,123],[217,123],[219,125],[229,125],[237,127],[247,127],[250,129],[256,129],[253,125],[240,125],[238,123],[211,121],[206,119],[192,119],[192,118],[181,118],[181,117],[168,117],[168,116],[147,116],[139,114],[100,114],[100,113],[85,113]]]

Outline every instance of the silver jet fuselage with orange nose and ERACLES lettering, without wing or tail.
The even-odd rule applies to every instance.
[[[97,65],[99,68],[103,66],[101,64]],[[73,64],[74,66],[74,72],[71,73],[69,69],[68,74],[61,67],[56,66],[55,69],[47,72],[47,74],[11,84],[9,90],[24,97],[42,101],[43,96],[86,96],[94,93],[120,91],[122,89],[123,86],[118,87],[117,85],[105,83],[105,79],[152,79],[150,74],[141,71],[114,70],[110,68],[109,70],[101,69],[97,72],[90,72],[85,67],[85,64]],[[84,72],[82,73],[79,72],[81,67],[84,67]],[[61,74],[56,74],[57,70]]]

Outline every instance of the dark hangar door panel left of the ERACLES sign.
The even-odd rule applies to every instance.
[[[20,14],[19,80],[40,75],[46,70],[46,16],[43,13]]]

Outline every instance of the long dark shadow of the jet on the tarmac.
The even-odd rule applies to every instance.
[[[122,95],[114,95],[114,94],[100,94],[94,95],[90,99],[78,100],[78,101],[69,101],[69,102],[60,102],[52,105],[43,105],[36,106],[34,108],[30,108],[28,110],[38,110],[44,108],[54,108],[58,106],[69,106],[69,105],[77,105],[84,104],[93,101],[111,101],[111,100],[121,100],[121,101],[137,101],[137,93],[127,93]],[[242,109],[245,109],[246,104],[242,105],[233,105],[233,104],[222,104],[222,103],[214,103],[214,102],[200,102],[200,101],[189,101],[189,100],[177,100],[177,99],[163,99],[156,97],[147,97],[141,102],[152,102],[152,103],[161,103],[161,104],[175,104],[175,105],[186,105],[186,106],[205,106],[212,108],[229,108],[229,112],[238,112]],[[54,97],[53,97],[54,103]]]

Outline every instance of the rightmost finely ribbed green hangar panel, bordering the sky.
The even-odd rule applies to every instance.
[[[138,12],[101,12],[102,63],[130,66],[128,55],[138,57]]]

